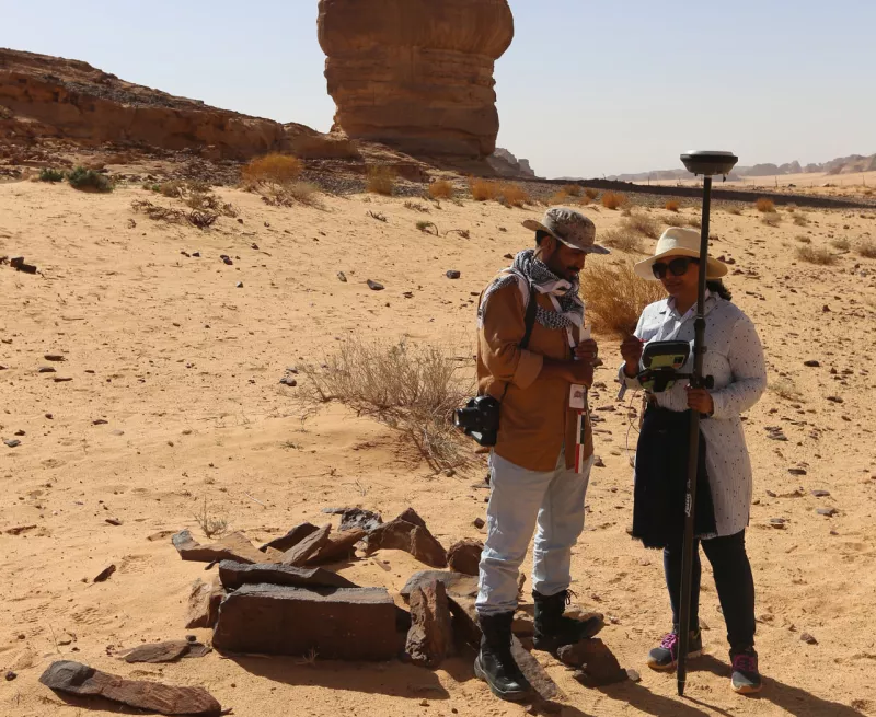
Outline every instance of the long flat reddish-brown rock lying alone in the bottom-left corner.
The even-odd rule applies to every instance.
[[[53,662],[39,682],[51,690],[100,696],[161,715],[218,715],[222,706],[203,687],[126,680],[70,660]]]

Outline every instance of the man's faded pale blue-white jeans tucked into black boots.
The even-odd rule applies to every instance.
[[[584,472],[566,470],[564,451],[553,471],[539,473],[491,455],[487,536],[481,554],[476,608],[482,615],[517,609],[517,576],[538,525],[532,587],[554,595],[572,581],[572,547],[584,530],[584,499],[593,456]]]

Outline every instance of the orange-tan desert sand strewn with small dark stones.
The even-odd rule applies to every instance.
[[[406,336],[470,356],[473,294],[507,264],[504,254],[529,243],[520,221],[542,209],[443,203],[426,216],[403,199],[361,196],[326,198],[325,210],[283,209],[237,190],[219,194],[240,207],[242,224],[222,218],[199,231],[153,222],[130,209],[131,199],[146,196],[139,187],[97,196],[31,182],[0,185],[0,255],[24,254],[43,273],[0,267],[0,435],[24,431],[18,448],[0,443],[0,670],[18,673],[0,681],[0,714],[114,713],[67,706],[37,683],[61,656],[128,676],[203,685],[238,717],[523,714],[473,678],[469,658],[431,672],[399,662],[309,664],[216,652],[132,666],[113,656],[186,632],[209,638],[207,631],[185,631],[184,621],[191,583],[210,574],[181,562],[166,535],[148,540],[182,528],[199,535],[193,514],[205,499],[254,541],[300,520],[323,521],[324,507],[350,505],[385,517],[413,506],[445,545],[483,537],[472,524],[485,509],[486,490],[475,487],[483,464],[436,475],[390,428],[335,404],[308,413],[297,400],[300,388],[278,381],[287,367],[319,361],[354,334]],[[600,230],[620,220],[619,212],[585,211]],[[876,232],[876,220],[818,211],[806,213],[803,228],[782,216],[777,228],[761,224],[751,208],[713,218],[714,251],[745,271],[728,284],[759,327],[771,382],[786,378],[800,392],[799,400],[768,392],[747,419],[756,475],[748,544],[764,692],[750,699],[729,690],[707,567],[707,657],[694,663],[690,698],[679,702],[673,678],[644,664],[670,616],[660,555],[625,532],[626,451],[635,431],[614,400],[619,339],[601,336],[607,367],[597,372],[592,403],[604,419],[596,442],[606,467],[593,471],[573,589],[578,602],[614,618],[602,637],[642,682],[588,690],[537,654],[566,693],[563,715],[876,714],[876,261],[849,252],[835,266],[816,267],[794,256],[796,235],[826,246],[849,236],[854,246]],[[440,238],[415,228],[424,218]],[[443,235],[450,229],[471,236]],[[448,269],[461,279],[447,279]],[[341,270],[347,284],[336,278]],[[369,278],[385,290],[370,291]],[[65,360],[49,362],[46,354]],[[808,359],[820,368],[804,367]],[[42,366],[56,372],[38,373]],[[55,382],[59,377],[71,381]],[[770,440],[768,426],[782,426],[787,442]],[[792,467],[806,475],[792,475]],[[816,498],[814,489],[830,496]],[[819,507],[838,513],[819,516]],[[786,527],[771,528],[771,518],[786,519]],[[92,583],[110,563],[117,571]],[[342,571],[395,592],[420,567],[384,551]],[[802,641],[803,633],[818,644]]]

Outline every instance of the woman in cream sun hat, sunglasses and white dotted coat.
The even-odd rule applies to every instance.
[[[660,393],[646,392],[647,407],[636,453],[633,535],[648,547],[664,548],[664,569],[672,605],[673,629],[648,655],[655,670],[672,670],[679,629],[690,631],[689,658],[702,652],[699,622],[700,548],[712,564],[715,587],[727,623],[733,662],[733,689],[759,692],[761,678],[754,651],[754,583],[746,554],[745,531],[751,505],[751,462],[740,414],[753,406],[766,388],[763,350],[754,325],[730,301],[721,282],[727,266],[710,258],[700,266],[700,233],[670,228],[655,255],[635,266],[636,274],[662,282],[669,297],[646,307],[635,336],[623,342],[621,383],[642,389],[638,380],[644,347],[650,342],[682,340],[693,348],[700,271],[707,271],[703,374],[711,389],[691,389],[680,380]],[[681,369],[690,372],[693,350]],[[622,390],[623,391],[623,390]],[[690,625],[679,625],[683,499],[687,483],[689,410],[705,416],[701,426],[696,541],[691,589]],[[701,450],[702,453],[702,450]]]

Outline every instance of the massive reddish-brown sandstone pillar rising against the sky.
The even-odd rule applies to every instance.
[[[507,0],[320,0],[319,37],[335,128],[415,154],[493,153]]]

